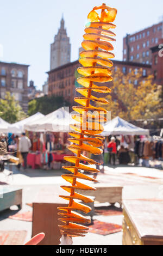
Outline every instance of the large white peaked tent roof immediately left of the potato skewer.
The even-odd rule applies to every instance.
[[[70,131],[70,124],[74,124],[71,114],[61,107],[52,113],[45,115],[41,119],[33,121],[33,123],[26,124],[24,127],[28,131],[53,131],[53,132],[68,132]]]

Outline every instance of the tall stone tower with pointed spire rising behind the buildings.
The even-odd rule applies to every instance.
[[[64,25],[62,16],[58,34],[54,36],[54,42],[51,44],[51,70],[70,62],[71,44]]]

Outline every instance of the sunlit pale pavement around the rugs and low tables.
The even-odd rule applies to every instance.
[[[61,184],[65,184],[61,178],[63,170],[42,170],[42,169],[13,169],[13,173],[5,169],[0,173],[0,190],[5,184],[23,188],[22,212],[32,211],[26,203],[32,203],[34,196],[42,189],[53,188],[59,190]],[[101,183],[117,184],[123,186],[123,199],[159,198],[163,199],[163,171],[145,167],[117,166],[116,168],[105,166],[105,173],[99,173],[97,179]],[[90,181],[87,181],[90,183]],[[0,199],[1,200],[1,199]],[[95,204],[98,206],[109,206],[109,203]],[[119,208],[118,203],[115,208]],[[9,215],[18,211],[17,206],[0,212],[1,230],[27,230],[26,241],[32,235],[32,222],[11,220]],[[116,223],[122,225],[122,215],[93,217],[96,220]],[[88,233],[85,237],[74,237],[73,245],[122,245],[122,232],[110,235],[98,235]]]

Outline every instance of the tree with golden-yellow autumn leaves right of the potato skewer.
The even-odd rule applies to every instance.
[[[110,102],[106,108],[111,111],[111,118],[119,115],[127,121],[135,121],[161,117],[162,87],[153,83],[153,76],[144,77],[142,81],[142,70],[127,75],[117,70],[112,76],[112,93],[106,96]]]

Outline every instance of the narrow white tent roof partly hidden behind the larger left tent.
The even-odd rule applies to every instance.
[[[15,124],[11,124],[8,128],[8,132],[12,132],[12,133],[21,133],[23,132],[25,129],[24,125],[29,124],[32,121],[36,121],[37,119],[43,118],[45,117],[45,115],[41,114],[40,112],[37,112],[34,115],[31,115],[30,117],[23,119],[21,121],[18,121]]]

